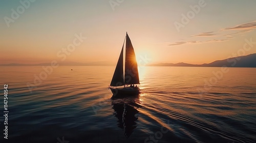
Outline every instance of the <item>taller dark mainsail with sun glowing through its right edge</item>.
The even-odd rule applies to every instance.
[[[138,65],[137,65],[133,45],[127,33],[126,33],[125,47],[126,49],[125,49],[124,83],[140,84]]]

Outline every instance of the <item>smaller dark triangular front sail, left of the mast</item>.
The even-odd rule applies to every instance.
[[[110,83],[111,86],[122,86],[124,85],[123,79],[123,47],[120,53],[118,62],[116,64],[115,73],[113,75],[112,81]]]

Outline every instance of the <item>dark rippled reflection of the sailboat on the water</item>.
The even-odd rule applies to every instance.
[[[114,109],[114,115],[117,117],[117,126],[124,131],[124,136],[128,138],[133,130],[137,127],[136,121],[138,120],[139,111],[137,108],[142,106],[137,104],[136,99],[123,98],[114,99],[112,106]]]

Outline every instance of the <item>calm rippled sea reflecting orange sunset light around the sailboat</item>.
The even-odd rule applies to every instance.
[[[256,142],[256,68],[140,67],[142,93],[112,100],[114,69],[0,66],[0,142]]]

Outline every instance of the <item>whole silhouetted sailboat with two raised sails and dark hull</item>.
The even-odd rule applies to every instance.
[[[138,64],[131,39],[127,32],[124,42],[109,86],[109,89],[111,89],[113,93],[113,97],[117,95],[134,96],[138,95],[140,91],[140,88],[138,87],[140,84]]]

